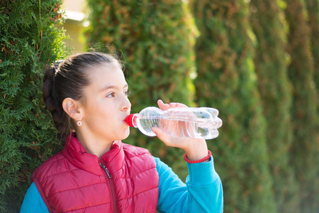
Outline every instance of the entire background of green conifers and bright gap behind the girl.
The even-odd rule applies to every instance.
[[[0,212],[61,151],[43,68],[96,50],[125,65],[132,113],[157,99],[220,111],[208,140],[224,212],[319,212],[318,0],[0,0]],[[131,129],[181,180],[184,153]]]

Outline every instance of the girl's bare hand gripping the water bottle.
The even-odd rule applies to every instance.
[[[164,104],[162,100],[158,100],[157,104],[159,109],[163,111],[174,107],[187,107],[185,104],[180,103]],[[156,133],[157,137],[163,141],[166,146],[183,149],[189,160],[200,160],[208,155],[208,148],[204,139],[171,136],[157,127],[152,128],[152,131]]]

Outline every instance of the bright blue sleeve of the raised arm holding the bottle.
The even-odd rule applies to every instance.
[[[159,174],[158,212],[223,212],[223,187],[213,165],[213,157],[205,163],[187,163],[186,184],[155,158]]]

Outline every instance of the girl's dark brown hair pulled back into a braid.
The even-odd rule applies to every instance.
[[[120,62],[112,55],[91,52],[72,55],[45,70],[43,100],[45,108],[52,114],[62,141],[65,141],[75,129],[75,122],[70,119],[62,107],[63,100],[69,97],[84,103],[83,89],[91,83],[87,73],[92,70],[92,67],[103,64],[121,67]]]

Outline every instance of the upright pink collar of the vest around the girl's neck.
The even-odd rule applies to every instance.
[[[100,161],[103,165],[106,165],[111,173],[120,170],[124,163],[124,151],[121,141],[114,141],[111,150],[102,155],[101,160],[99,160],[98,156],[92,155],[85,150],[79,140],[77,140],[76,133],[72,133],[67,137],[62,153],[77,168],[96,175],[103,175],[99,164]]]

